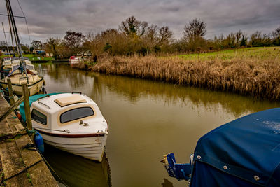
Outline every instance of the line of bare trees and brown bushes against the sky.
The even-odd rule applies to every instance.
[[[214,39],[205,39],[207,24],[195,18],[183,29],[181,39],[174,39],[168,26],[158,27],[130,16],[118,29],[106,29],[98,34],[67,31],[63,39],[49,38],[45,43],[32,41],[31,48],[48,50],[56,58],[68,58],[77,53],[91,55],[94,61],[101,55],[147,55],[162,53],[202,53],[231,48],[280,46],[280,27],[270,34],[257,31],[248,35],[239,30]]]

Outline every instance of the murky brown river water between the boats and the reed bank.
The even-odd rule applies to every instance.
[[[45,90],[80,91],[97,102],[109,123],[108,163],[46,148],[45,157],[69,186],[186,186],[168,176],[160,160],[174,153],[188,162],[197,140],[248,113],[279,107],[227,92],[183,87],[72,69],[68,64],[36,64]]]

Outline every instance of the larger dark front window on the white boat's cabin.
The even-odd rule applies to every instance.
[[[87,116],[93,116],[94,111],[90,107],[81,107],[76,109],[71,109],[62,113],[60,116],[60,123],[67,123],[71,120],[78,120],[80,118],[85,118]]]

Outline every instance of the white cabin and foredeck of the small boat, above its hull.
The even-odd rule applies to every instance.
[[[67,129],[70,132],[74,130],[86,133],[87,125],[98,124],[97,131],[103,132],[108,128],[97,104],[90,97],[77,92],[45,95],[36,99],[31,104],[31,120],[34,129]],[[80,125],[81,123],[83,125]]]

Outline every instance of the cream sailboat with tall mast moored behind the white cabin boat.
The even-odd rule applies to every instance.
[[[22,95],[22,83],[27,83],[29,95],[35,95],[40,92],[41,88],[45,84],[43,77],[38,76],[37,72],[34,70],[34,66],[29,62],[27,58],[22,55],[22,47],[20,43],[20,38],[18,36],[18,29],[15,25],[15,18],[13,16],[13,11],[10,6],[10,1],[6,0],[6,7],[8,12],[8,18],[11,27],[10,32],[15,35],[15,41],[17,44],[17,50],[19,57],[11,59],[11,69],[7,76],[0,80],[0,84],[3,88],[8,87],[7,79],[10,78],[12,83],[13,92],[16,95]]]

